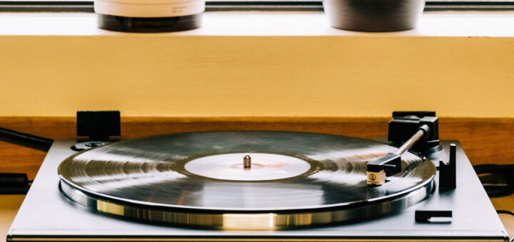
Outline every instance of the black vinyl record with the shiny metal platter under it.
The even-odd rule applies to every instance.
[[[186,226],[281,229],[381,216],[430,196],[435,166],[413,153],[402,155],[403,172],[382,186],[366,184],[367,162],[396,149],[303,132],[181,133],[79,152],[61,163],[59,176],[61,191],[94,211]],[[237,158],[213,162],[220,154]],[[244,154],[252,157],[251,168],[243,167]],[[184,168],[203,160],[211,164],[201,175]],[[303,171],[295,166],[305,164],[305,172],[286,178],[257,174]],[[234,179],[232,169],[255,179]]]

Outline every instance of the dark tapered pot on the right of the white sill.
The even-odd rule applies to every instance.
[[[415,28],[425,0],[323,0],[331,26],[351,31]]]

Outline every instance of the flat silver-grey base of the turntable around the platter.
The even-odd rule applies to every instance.
[[[480,181],[473,172],[470,162],[458,144],[457,148],[457,187],[450,193],[435,191],[430,199],[423,201],[401,214],[374,221],[351,223],[340,226],[327,226],[291,231],[211,231],[171,226],[156,226],[121,219],[112,219],[93,214],[69,203],[61,196],[57,186],[57,167],[61,160],[74,152],[69,149],[73,140],[57,140],[51,147],[36,176],[34,184],[26,195],[19,214],[12,223],[9,236],[12,241],[32,241],[47,236],[81,238],[94,236],[129,236],[131,238],[231,238],[233,236],[263,236],[265,238],[367,238],[371,241],[384,241],[386,238],[409,238],[438,240],[440,238],[461,238],[463,240],[493,239],[503,241],[505,229],[495,213]],[[445,147],[448,142],[443,142]],[[452,210],[451,223],[415,223],[414,211]],[[46,221],[41,223],[41,221]]]

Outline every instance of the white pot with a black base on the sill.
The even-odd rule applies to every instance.
[[[99,28],[124,32],[168,32],[198,28],[204,0],[95,0]]]

